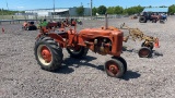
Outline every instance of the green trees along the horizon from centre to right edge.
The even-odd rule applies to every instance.
[[[148,7],[148,8],[152,8],[151,5]],[[170,7],[159,7],[159,8],[168,8],[168,14],[174,14],[175,13],[175,4],[173,5],[170,5]],[[131,15],[131,14],[138,14],[138,13],[141,13],[143,11],[144,7],[141,7],[141,5],[136,5],[136,7],[130,7],[130,8],[126,8],[124,9],[122,7],[108,7],[106,8],[105,5],[100,5],[98,8],[93,8],[92,9],[92,15],[96,15],[97,14],[105,14],[106,12],[108,14],[128,14],[128,15]],[[79,15],[83,15],[83,12],[84,12],[84,9],[83,9],[83,5],[79,7],[77,9],[77,13]]]

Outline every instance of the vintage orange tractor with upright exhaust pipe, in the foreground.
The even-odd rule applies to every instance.
[[[62,30],[52,29],[54,24],[50,23],[47,27],[42,27],[34,47],[40,68],[46,71],[58,70],[62,63],[62,48],[72,58],[82,58],[90,49],[102,56],[113,56],[112,60],[105,62],[105,72],[109,76],[121,77],[127,72],[127,62],[120,57],[124,35],[121,30],[108,29],[107,14],[105,17],[105,27],[84,28],[79,33],[75,21],[65,24],[67,26]]]

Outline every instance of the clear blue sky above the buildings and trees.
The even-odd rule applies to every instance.
[[[56,8],[79,7],[81,3],[88,8],[91,0],[55,0]],[[10,10],[34,10],[34,9],[52,9],[54,0],[0,0],[0,9]],[[93,0],[93,7],[116,7],[129,8],[135,5],[160,7],[175,4],[175,0]]]

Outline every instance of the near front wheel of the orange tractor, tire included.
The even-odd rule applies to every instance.
[[[108,76],[120,78],[125,74],[125,65],[117,59],[106,61],[104,65],[105,72]]]

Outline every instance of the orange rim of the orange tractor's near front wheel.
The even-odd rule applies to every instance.
[[[118,65],[112,61],[106,64],[106,70],[110,76],[116,76],[119,72]]]

